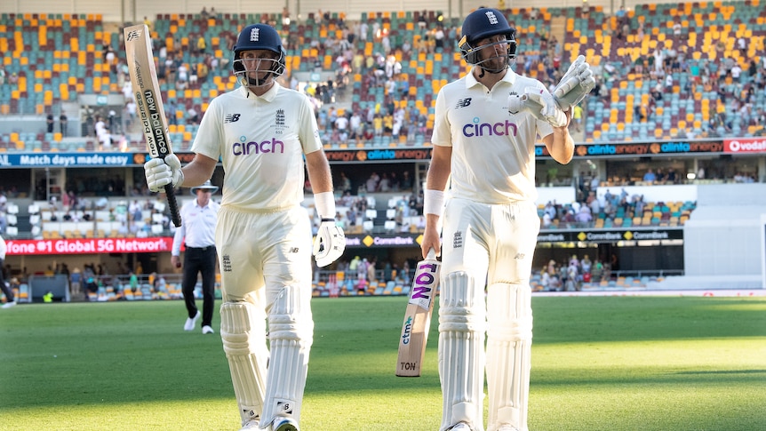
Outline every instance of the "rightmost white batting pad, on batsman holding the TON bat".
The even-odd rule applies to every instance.
[[[487,387],[490,431],[528,431],[532,308],[529,284],[491,284],[487,292]]]

